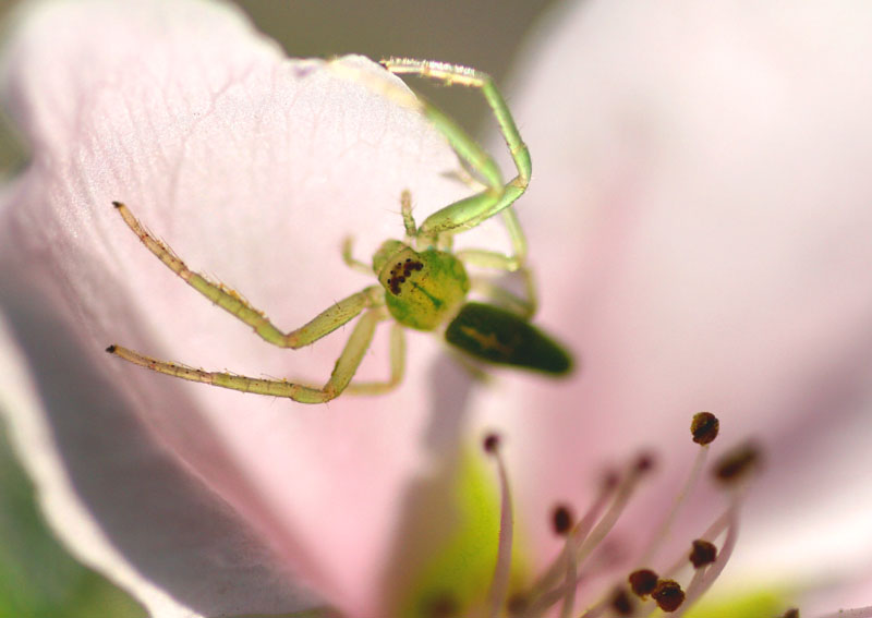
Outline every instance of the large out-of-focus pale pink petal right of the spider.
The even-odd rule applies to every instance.
[[[767,449],[727,573],[872,566],[872,9],[780,9],[576,2],[521,54],[537,319],[581,371],[506,379],[482,422],[509,425],[550,554],[548,509],[581,508],[592,471],[644,444],[668,466],[647,501],[662,504],[689,465],[690,415],[712,410],[722,444]],[[681,541],[707,523],[697,502]],[[631,546],[652,512],[628,520]]]

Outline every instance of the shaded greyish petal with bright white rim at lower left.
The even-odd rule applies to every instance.
[[[4,306],[12,322],[23,322],[19,308]],[[33,344],[34,336],[22,339]],[[123,404],[111,388],[81,387],[99,380],[77,368],[70,358],[76,353],[61,334],[41,356],[32,354],[65,367],[44,371],[35,383],[0,320],[0,409],[44,512],[75,556],[161,618],[320,605],[143,423],[119,413]]]

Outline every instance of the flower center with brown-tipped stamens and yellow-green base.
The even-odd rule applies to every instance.
[[[493,504],[491,516],[491,521],[498,519],[499,524],[498,534],[491,538],[491,543],[497,545],[497,553],[495,562],[489,562],[494,565],[489,585],[486,583],[487,571],[482,573],[481,569],[477,572],[484,577],[477,580],[477,594],[461,593],[460,587],[446,586],[447,582],[439,579],[436,586],[428,586],[428,590],[431,593],[434,590],[441,592],[426,596],[427,603],[419,605],[413,615],[421,618],[682,616],[703,598],[729,561],[738,540],[744,495],[761,465],[761,451],[750,441],[734,447],[708,465],[710,445],[717,438],[718,431],[719,422],[714,414],[700,412],[693,416],[690,433],[693,443],[699,445],[697,457],[686,481],[664,509],[661,521],[641,549],[631,556],[617,556],[614,548],[619,544],[614,532],[628,506],[634,502],[640,487],[657,468],[657,459],[651,452],[639,452],[622,466],[608,471],[580,517],[576,517],[573,509],[566,504],[553,507],[548,524],[562,540],[562,548],[537,574],[532,575],[529,565],[518,564],[519,555],[523,556],[523,553],[512,549],[514,517],[501,439],[497,434],[487,435],[482,446],[496,466],[499,488],[498,505]],[[706,468],[725,497],[725,507],[702,534],[688,534],[683,540],[685,548],[675,550],[676,543],[669,541],[671,529],[682,507],[697,490]],[[485,505],[485,508],[488,507]],[[481,531],[486,528],[479,528],[480,532],[467,537],[467,550],[460,553],[462,564],[469,565],[470,556],[475,554],[472,544],[482,542]],[[681,534],[686,532],[682,530]],[[681,538],[676,541],[681,547]],[[664,556],[668,548],[677,555]],[[629,567],[626,558],[632,558]],[[653,568],[664,565],[665,568]],[[429,581],[433,584],[435,580]],[[463,581],[472,583],[468,577]],[[718,616],[775,618],[782,609],[776,601],[768,599],[767,603],[766,609],[756,609],[753,614],[746,609]],[[841,611],[823,618],[872,618],[872,607]],[[782,618],[799,618],[799,611],[787,609]]]

